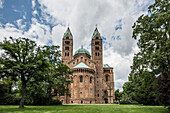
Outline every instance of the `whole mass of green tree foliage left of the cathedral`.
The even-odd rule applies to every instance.
[[[52,99],[52,89],[70,96],[68,84],[72,72],[62,64],[59,46],[40,47],[30,39],[10,37],[0,43],[0,48],[4,50],[0,78],[15,81],[22,96],[20,108],[24,107],[24,100],[33,105],[60,104]]]

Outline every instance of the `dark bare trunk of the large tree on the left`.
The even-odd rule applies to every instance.
[[[25,98],[25,94],[26,94],[26,81],[25,81],[25,77],[21,76],[21,82],[22,82],[22,98],[20,101],[20,105],[19,108],[24,108],[24,98]]]

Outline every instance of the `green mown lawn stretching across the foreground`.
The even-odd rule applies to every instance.
[[[163,106],[143,105],[60,105],[25,106],[0,105],[0,113],[169,113]]]

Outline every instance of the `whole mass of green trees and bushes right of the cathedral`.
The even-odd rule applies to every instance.
[[[155,100],[158,95],[162,104],[170,105],[169,6],[168,0],[155,0],[148,8],[148,15],[141,15],[132,27],[132,38],[138,39],[140,51],[134,56],[130,82],[124,89],[133,100],[142,104],[158,104]],[[155,79],[158,79],[157,84]],[[155,92],[155,88],[158,92]]]

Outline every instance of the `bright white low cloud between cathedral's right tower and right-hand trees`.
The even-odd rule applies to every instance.
[[[137,45],[133,45],[132,52],[129,55],[122,56],[121,54],[112,51],[112,47],[104,51],[103,61],[104,63],[113,66],[115,89],[122,90],[124,82],[128,81],[128,75],[130,73],[130,66],[133,62],[133,56],[139,52]]]

